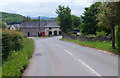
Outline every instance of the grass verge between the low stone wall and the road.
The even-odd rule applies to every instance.
[[[115,54],[120,54],[120,50],[112,49],[111,42],[100,42],[100,41],[79,41],[79,40],[70,40],[70,39],[61,39],[63,41],[74,42],[83,46],[92,47],[100,50],[105,50]]]

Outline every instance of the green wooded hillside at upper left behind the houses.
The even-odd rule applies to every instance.
[[[20,14],[0,12],[0,18],[7,24],[19,24],[22,23],[25,17]]]

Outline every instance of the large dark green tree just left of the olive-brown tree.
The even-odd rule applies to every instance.
[[[84,35],[88,34],[96,34],[97,31],[97,13],[98,7],[101,3],[96,2],[92,4],[89,8],[85,8],[85,12],[83,13],[82,23],[81,23],[81,32]]]

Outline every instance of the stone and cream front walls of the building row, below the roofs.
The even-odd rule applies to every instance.
[[[51,35],[60,35],[59,32],[60,32],[60,29],[59,27],[54,27],[54,28],[34,28],[34,27],[31,27],[31,28],[21,28],[21,32],[23,32],[23,34],[25,36],[30,36],[30,37],[38,37],[38,36],[41,36],[42,32],[45,32],[45,36],[49,36],[50,35],[50,32]],[[39,33],[39,34],[38,34]]]

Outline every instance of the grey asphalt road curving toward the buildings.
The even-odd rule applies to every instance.
[[[23,76],[118,76],[118,56],[60,38],[34,38],[35,52]]]

